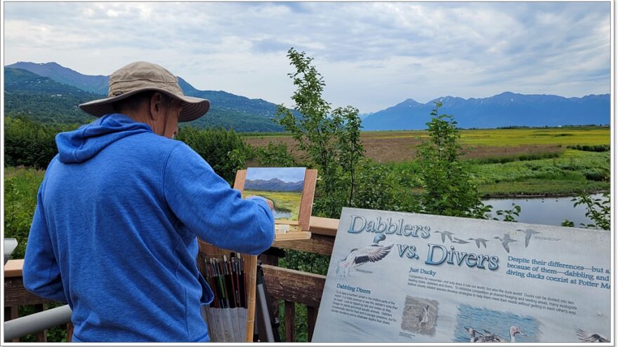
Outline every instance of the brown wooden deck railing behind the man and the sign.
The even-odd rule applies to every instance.
[[[311,217],[310,239],[276,241],[272,246],[284,250],[329,255],[333,250],[338,224],[338,219]],[[281,268],[277,266],[278,258],[272,255],[263,254],[259,259],[263,262],[264,280],[272,299],[271,302],[275,306],[273,312],[279,312],[280,300],[284,303],[285,341],[294,342],[296,340],[294,304],[307,307],[308,341],[311,341],[326,276]],[[44,309],[44,304],[52,302],[25,290],[22,282],[22,265],[23,259],[16,259],[8,261],[4,266],[5,320],[17,318],[19,306],[34,306],[35,311],[39,312]],[[72,325],[67,325],[67,328],[70,341]],[[46,342],[46,332],[37,334],[37,341]],[[14,342],[18,341],[14,340]]]

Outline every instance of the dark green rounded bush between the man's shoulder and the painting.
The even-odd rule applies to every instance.
[[[192,126],[182,127],[176,140],[185,142],[196,151],[230,185],[236,171],[245,167],[251,151],[234,130],[223,128],[199,130]]]

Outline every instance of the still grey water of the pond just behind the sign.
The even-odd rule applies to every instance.
[[[593,199],[603,198],[602,194],[591,195]],[[522,207],[519,217],[515,217],[518,222],[531,224],[546,224],[560,226],[565,219],[581,227],[580,223],[593,224],[591,219],[586,217],[586,206],[578,205],[573,207],[572,196],[560,198],[497,198],[483,200],[485,205],[492,205],[492,217],[502,220],[504,216],[497,216],[497,210],[511,210],[511,203]]]

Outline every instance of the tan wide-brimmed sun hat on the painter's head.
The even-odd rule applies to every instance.
[[[176,76],[151,62],[132,62],[114,72],[110,76],[108,97],[80,104],[79,108],[96,117],[105,116],[115,112],[112,107],[114,102],[146,90],[156,90],[182,101],[179,122],[195,121],[210,109],[208,100],[185,96]]]

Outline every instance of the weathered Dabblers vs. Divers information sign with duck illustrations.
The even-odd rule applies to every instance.
[[[610,232],[344,208],[313,342],[607,342]]]

